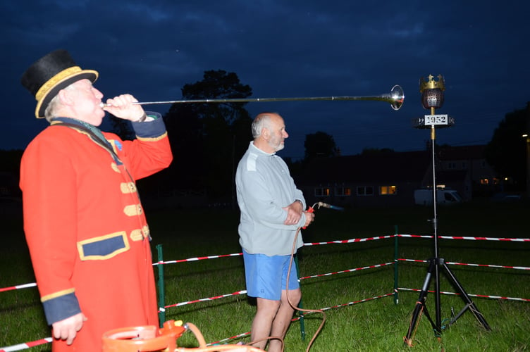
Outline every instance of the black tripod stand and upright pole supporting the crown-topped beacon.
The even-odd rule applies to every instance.
[[[421,287],[421,292],[419,294],[418,301],[416,303],[416,306],[414,307],[414,312],[412,313],[412,320],[410,322],[409,330],[407,331],[407,336],[405,337],[405,344],[408,346],[412,346],[412,334],[414,332],[414,329],[417,325],[417,322],[419,320],[419,316],[421,313],[425,313],[425,316],[429,319],[429,322],[431,322],[431,325],[434,329],[434,332],[436,334],[436,337],[440,337],[442,332],[442,322],[441,322],[441,316],[440,316],[440,269],[445,272],[448,279],[450,280],[450,283],[453,287],[457,290],[457,293],[460,294],[464,302],[466,303],[464,308],[460,310],[459,313],[457,313],[455,316],[453,316],[449,322],[449,325],[452,325],[456,322],[458,318],[462,314],[465,313],[466,310],[471,310],[473,315],[475,316],[476,320],[480,322],[482,327],[486,330],[491,330],[490,326],[488,325],[488,322],[483,318],[482,313],[479,311],[478,308],[476,308],[475,303],[469,298],[466,291],[464,290],[464,287],[462,287],[462,284],[458,282],[455,275],[451,272],[451,270],[448,268],[447,264],[445,263],[445,260],[443,258],[440,258],[438,256],[438,217],[436,213],[436,159],[435,159],[435,140],[436,140],[436,129],[435,125],[431,125],[431,146],[432,146],[432,163],[433,163],[433,209],[434,209],[434,218],[432,220],[433,228],[434,228],[434,258],[429,259],[429,270],[427,272],[427,275],[425,277],[424,285]],[[427,294],[429,293],[429,286],[431,285],[431,280],[434,279],[435,283],[435,308],[436,308],[436,322],[434,322],[431,319],[431,316],[429,315],[429,310],[427,310],[426,307],[426,298]]]

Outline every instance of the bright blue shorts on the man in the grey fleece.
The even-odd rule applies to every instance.
[[[290,258],[291,256],[250,254],[243,250],[247,296],[280,301],[282,290],[299,289],[295,263],[291,265],[287,287]]]

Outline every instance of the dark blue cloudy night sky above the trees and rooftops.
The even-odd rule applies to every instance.
[[[24,149],[47,126],[20,77],[55,49],[99,71],[104,99],[181,99],[206,70],[236,73],[251,98],[405,90],[400,111],[381,101],[248,103],[252,116],[283,115],[290,138],[281,155],[293,158],[319,131],[343,155],[424,149],[429,130],[412,125],[429,113],[419,79],[441,74],[445,104],[436,113],[455,125],[438,129],[436,142],[486,144],[506,113],[530,101],[529,13],[529,1],[2,1],[0,149]],[[164,114],[169,105],[145,108]]]

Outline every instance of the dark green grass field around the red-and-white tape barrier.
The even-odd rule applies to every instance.
[[[526,230],[527,203],[466,203],[438,207],[438,235],[469,237],[529,238]],[[147,217],[155,246],[161,244],[164,260],[216,256],[240,252],[238,213],[233,210],[157,210]],[[4,246],[0,249],[0,288],[34,282],[20,216],[4,220]],[[303,232],[304,242],[333,241],[394,234],[432,234],[433,209],[368,208],[336,212],[316,210],[316,221]],[[440,240],[440,258],[449,262],[530,267],[530,242]],[[432,239],[399,239],[399,258],[424,260],[433,256]],[[306,246],[300,250],[302,277],[367,265],[393,262],[394,239],[355,244]],[[156,260],[156,258],[154,258]],[[399,287],[420,289],[427,273],[425,263],[399,264]],[[529,270],[450,265],[468,294],[530,298]],[[156,269],[155,269],[156,274]],[[242,258],[216,258],[164,265],[166,305],[207,298],[245,289]],[[423,317],[417,323],[412,348],[403,337],[412,317],[418,293],[401,291],[399,304],[392,296],[363,303],[366,298],[393,292],[394,267],[346,272],[302,281],[302,306],[329,308],[326,322],[311,351],[530,351],[530,302],[473,298],[491,331],[484,330],[467,310],[447,327],[451,310],[458,313],[464,301],[458,296],[441,297],[443,333],[437,339]],[[433,289],[434,283],[431,283]],[[445,275],[441,291],[455,291]],[[427,307],[435,317],[434,295]],[[347,304],[352,303],[352,304]],[[337,307],[339,306],[339,307]],[[335,307],[335,308],[333,308]],[[255,307],[245,295],[166,309],[166,320],[183,320],[197,325],[207,342],[249,332]],[[285,351],[305,351],[323,320],[321,313],[293,322],[285,337]],[[37,289],[0,293],[0,346],[12,346],[49,337]],[[249,342],[249,337],[229,341]],[[195,347],[193,334],[178,339],[179,346]],[[49,351],[49,344],[30,348]]]

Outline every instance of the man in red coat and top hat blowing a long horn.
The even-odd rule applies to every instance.
[[[50,126],[20,165],[24,230],[52,350],[101,351],[104,332],[159,325],[149,227],[135,181],[173,156],[159,114],[130,94],[107,99],[67,51],[36,61],[22,84]],[[102,107],[104,106],[104,107]],[[101,132],[105,111],[130,120],[136,139]]]

